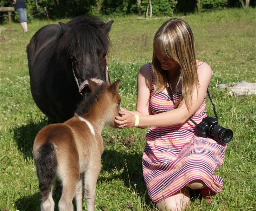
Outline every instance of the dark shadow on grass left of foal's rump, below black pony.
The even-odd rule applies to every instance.
[[[14,128],[14,139],[17,142],[18,149],[24,154],[25,159],[33,158],[32,148],[34,139],[45,125],[47,125],[47,120],[34,123],[33,120],[26,125]]]

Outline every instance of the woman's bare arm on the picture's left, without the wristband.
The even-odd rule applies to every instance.
[[[147,116],[151,114],[151,110],[149,107],[149,99],[150,99],[150,90],[151,90],[151,73],[149,70],[149,64],[143,65],[138,73],[137,76],[137,88],[138,88],[138,93],[137,93],[137,103],[136,103],[136,111],[128,111],[124,108],[121,107],[121,112],[120,114],[122,115],[122,112],[128,112],[132,114],[132,117],[134,118],[135,122],[135,116],[134,115],[139,115],[139,116]],[[117,123],[117,119],[116,119]],[[117,124],[118,127],[122,128],[123,124]],[[145,127],[140,127],[140,128],[145,128]]]

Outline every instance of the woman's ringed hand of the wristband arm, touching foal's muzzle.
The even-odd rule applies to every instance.
[[[135,115],[127,111],[119,111],[120,116],[116,116],[115,123],[118,128],[134,127]]]

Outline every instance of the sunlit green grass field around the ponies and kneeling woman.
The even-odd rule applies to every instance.
[[[226,9],[183,17],[194,32],[197,58],[213,70],[210,92],[219,124],[234,132],[224,164],[216,174],[224,180],[213,203],[193,198],[189,211],[251,211],[256,209],[256,96],[236,96],[218,90],[218,84],[242,80],[256,82],[256,9]],[[120,78],[122,107],[134,110],[139,67],[151,61],[153,36],[167,19],[136,20],[136,16],[111,17],[112,46],[108,55],[111,81]],[[107,20],[107,17],[105,17]],[[59,20],[58,20],[59,21]],[[57,23],[57,20],[51,23]],[[63,22],[67,20],[62,20]],[[18,23],[1,31],[0,41],[0,209],[37,211],[40,193],[32,158],[33,139],[47,124],[31,97],[26,45],[46,20],[32,20],[28,33]],[[1,25],[8,28],[8,25]],[[207,114],[213,116],[207,100]],[[97,211],[156,211],[147,196],[142,176],[146,130],[105,128],[105,150],[97,182]],[[59,199],[56,190],[55,202]],[[83,202],[84,209],[86,207]],[[56,206],[57,207],[57,206]]]

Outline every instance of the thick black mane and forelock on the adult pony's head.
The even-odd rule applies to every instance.
[[[110,39],[108,34],[100,31],[105,24],[100,18],[84,16],[73,18],[67,22],[66,25],[69,28],[65,33],[60,29],[57,37],[56,55],[59,65],[65,68],[73,52],[79,51],[80,57],[93,49],[107,52]]]

